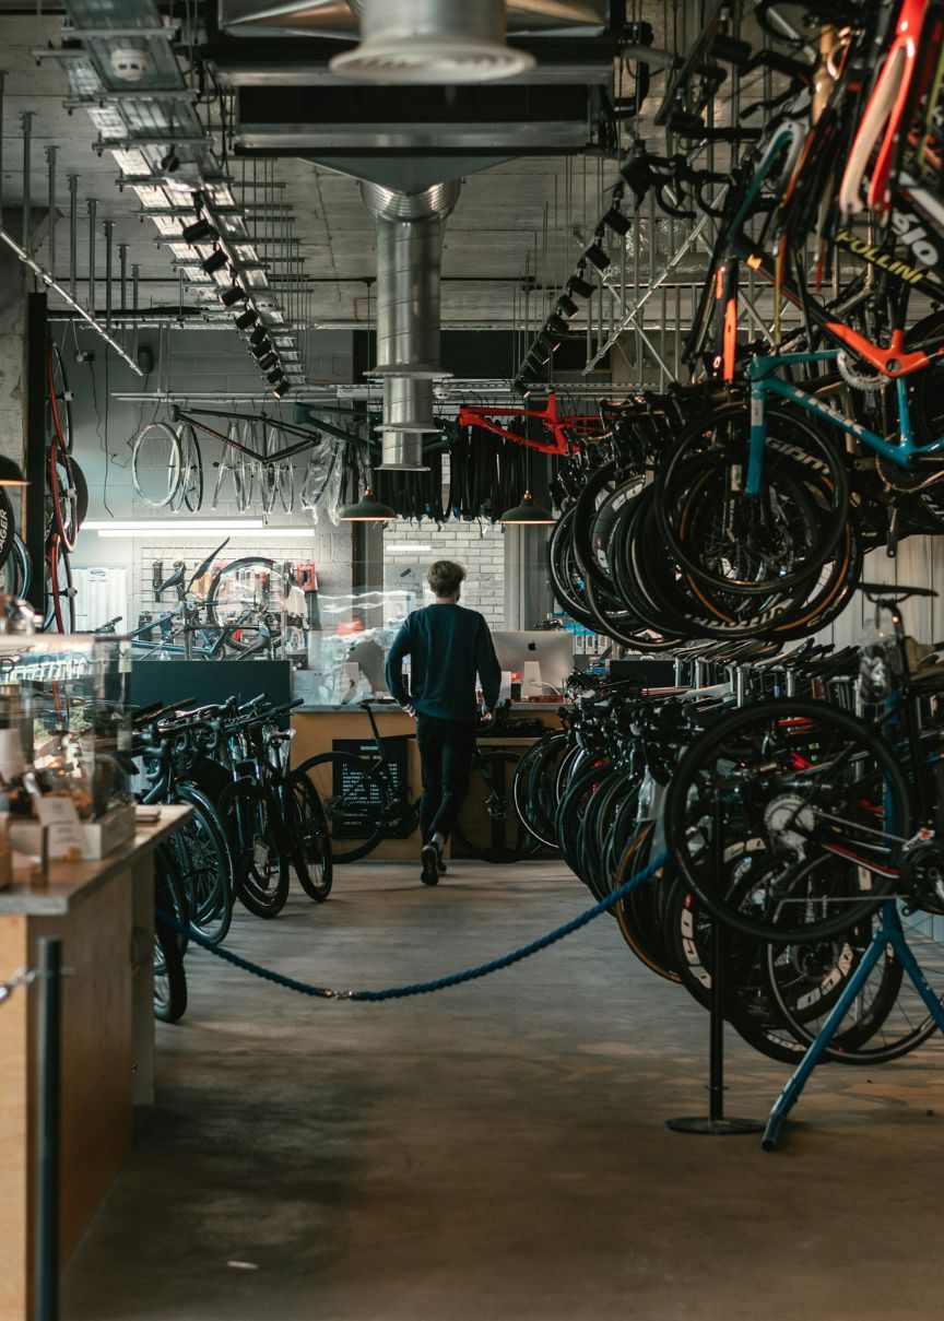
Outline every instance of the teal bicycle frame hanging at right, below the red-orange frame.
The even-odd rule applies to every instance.
[[[775,395],[779,399],[786,399],[788,403],[797,404],[805,412],[813,413],[815,417],[821,417],[823,421],[829,423],[830,427],[838,427],[840,431],[854,436],[856,440],[862,441],[869,449],[889,458],[899,468],[908,468],[915,454],[936,454],[944,450],[944,436],[937,436],[936,440],[929,441],[927,445],[915,444],[915,431],[911,424],[911,408],[908,406],[908,388],[903,376],[898,376],[895,380],[899,435],[896,441],[890,441],[861,423],[852,421],[817,395],[811,395],[805,390],[800,390],[799,386],[793,386],[788,380],[780,380],[775,375],[778,367],[805,366],[811,362],[836,362],[840,351],[838,349],[824,349],[820,353],[783,353],[751,358],[747,369],[751,399],[750,452],[747,458],[747,480],[745,483],[747,495],[759,495],[760,493],[763,452],[767,439],[768,395]]]

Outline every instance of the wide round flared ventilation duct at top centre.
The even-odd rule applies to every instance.
[[[383,83],[511,78],[535,59],[504,42],[503,0],[360,0],[360,45],[334,73]]]

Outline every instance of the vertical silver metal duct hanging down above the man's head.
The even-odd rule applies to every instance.
[[[437,431],[433,380],[440,366],[442,223],[459,196],[458,180],[404,193],[360,184],[376,221],[378,283],[374,373],[383,378],[384,469],[422,469],[424,432]]]

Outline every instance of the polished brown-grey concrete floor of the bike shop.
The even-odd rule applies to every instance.
[[[384,987],[586,906],[560,868],[341,871],[231,948]],[[937,1321],[944,1050],[820,1070],[783,1148],[693,1137],[706,1018],[601,918],[507,972],[380,1005],[187,958],[157,1107],[67,1268],[63,1321]],[[786,1070],[729,1042],[730,1114]]]

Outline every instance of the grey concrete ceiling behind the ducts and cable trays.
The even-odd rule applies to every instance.
[[[688,5],[694,11],[693,5]],[[668,8],[656,0],[630,7],[635,16],[650,18],[655,28],[655,46],[664,48],[692,32],[665,32],[663,15]],[[685,9],[685,7],[683,7]],[[131,190],[120,192],[119,172],[112,156],[99,156],[94,149],[96,132],[84,110],[71,115],[65,107],[69,83],[59,61],[37,63],[33,52],[62,41],[62,13],[42,17],[25,16],[21,4],[0,0],[0,65],[5,71],[3,106],[3,203],[21,203],[24,197],[24,147],[21,115],[32,114],[33,206],[45,206],[48,165],[45,148],[54,145],[57,155],[57,202],[65,219],[58,223],[55,275],[69,281],[69,199],[66,176],[79,177],[79,230],[77,275],[79,296],[86,296],[88,271],[87,199],[98,203],[99,280],[104,268],[102,223],[114,222],[114,240],[128,246],[128,268],[140,268],[140,306],[143,309],[177,308],[178,279],[170,255],[154,242],[152,222],[141,222],[136,213],[140,203]],[[264,41],[260,41],[264,45]],[[615,92],[632,86],[628,74],[618,71]],[[665,74],[654,71],[652,94],[644,107],[640,127],[651,129],[652,116],[665,87]],[[207,115],[210,116],[207,120]],[[219,141],[220,125],[214,106],[201,107],[201,118]],[[240,181],[256,182],[265,166],[253,160],[230,160],[236,197]],[[310,312],[314,328],[366,325],[370,317],[370,281],[375,269],[374,222],[360,201],[356,181],[308,160],[280,159],[271,166],[290,214],[290,234],[297,239],[304,258],[304,275],[313,293]],[[520,318],[524,299],[524,276],[529,272],[539,284],[560,287],[573,269],[580,252],[590,240],[601,214],[605,182],[615,178],[613,160],[599,156],[524,156],[491,169],[469,173],[459,202],[449,221],[444,252],[442,325],[444,328],[511,326],[515,310]],[[247,194],[248,198],[252,194]],[[260,192],[256,190],[256,197]],[[251,205],[251,202],[248,202]],[[18,235],[17,235],[18,236]],[[46,263],[41,247],[37,259]],[[118,275],[118,258],[115,258]],[[119,304],[118,289],[112,296]],[[55,300],[53,297],[53,305]],[[99,285],[98,304],[103,305]],[[197,306],[194,292],[186,289],[184,305]]]

